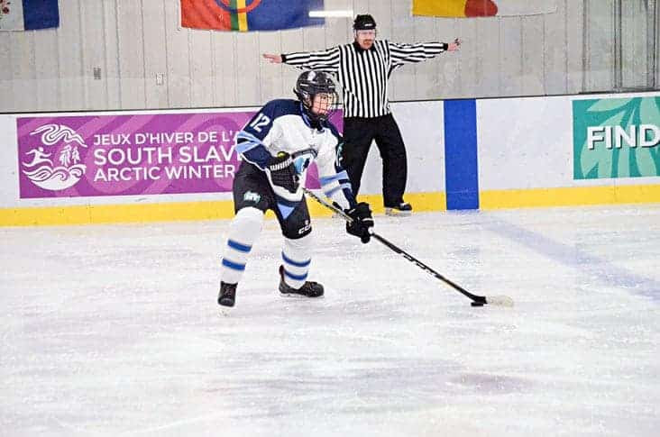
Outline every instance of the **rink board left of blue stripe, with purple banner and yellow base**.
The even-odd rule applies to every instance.
[[[404,121],[399,123],[402,135],[415,144],[408,150],[408,161],[416,169],[408,178],[406,199],[417,211],[445,209],[445,176],[438,171],[443,168],[443,102],[392,106]],[[0,143],[4,145],[0,161],[5,166],[0,176],[0,225],[230,218],[234,215],[233,178],[226,177],[225,169],[232,165],[234,171],[237,168],[234,134],[257,110],[0,115]],[[341,129],[341,114],[336,115],[335,124]],[[58,130],[49,133],[50,124]],[[61,141],[50,144],[49,134],[55,139],[61,137]],[[53,187],[61,182],[55,169],[65,167],[64,178],[70,178],[75,170],[73,149],[77,150],[78,163],[85,166],[84,173],[70,187]],[[31,166],[33,162],[36,164]],[[383,210],[380,162],[374,147],[361,190],[362,199],[370,202],[376,213]],[[39,180],[39,172],[26,176],[41,165],[48,169],[45,176],[54,181]],[[181,167],[187,167],[184,175],[197,180],[170,178],[168,172]],[[214,169],[218,178],[215,174],[192,174],[193,170],[203,173]],[[316,167],[308,173],[307,187],[318,188]],[[331,214],[314,202],[309,206],[314,215]]]

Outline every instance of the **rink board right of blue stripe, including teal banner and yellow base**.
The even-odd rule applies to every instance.
[[[477,101],[480,208],[660,202],[660,135],[653,138],[654,128],[648,127],[660,126],[658,96]],[[579,106],[587,110],[575,111]],[[647,126],[652,140],[647,142],[655,145],[631,147],[621,141],[617,147],[610,138],[611,149],[606,141],[583,147],[585,123],[593,125],[592,136],[604,136],[595,125],[599,114],[601,125],[620,125],[628,133],[631,124]],[[591,158],[590,153],[600,155]]]

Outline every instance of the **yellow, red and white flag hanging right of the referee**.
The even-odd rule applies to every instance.
[[[470,18],[551,14],[556,0],[413,0],[413,15]]]

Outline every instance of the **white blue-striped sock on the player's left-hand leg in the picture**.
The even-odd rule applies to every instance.
[[[247,207],[236,213],[229,225],[229,234],[223,254],[221,278],[227,284],[236,284],[243,278],[243,271],[252,244],[259,237],[263,213],[257,208]]]

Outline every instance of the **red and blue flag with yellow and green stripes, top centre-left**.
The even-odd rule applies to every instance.
[[[319,26],[323,0],[181,0],[181,26],[216,31],[280,31]]]

